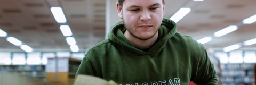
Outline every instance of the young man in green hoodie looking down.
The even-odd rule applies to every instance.
[[[122,85],[217,84],[204,46],[163,18],[164,0],[118,0],[116,6],[123,21],[87,52],[77,74]]]

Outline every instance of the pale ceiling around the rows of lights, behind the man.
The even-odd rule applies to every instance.
[[[36,52],[71,51],[59,29],[61,24],[55,21],[50,11],[53,6],[62,7],[67,18],[67,23],[62,24],[70,26],[79,51],[85,52],[105,39],[106,1],[103,0],[0,0],[0,29]],[[181,7],[189,7],[191,12],[177,23],[178,32],[195,40],[212,37],[212,41],[204,44],[207,49],[221,50],[256,38],[256,22],[239,24],[256,14],[256,1],[166,0],[164,17],[170,18]],[[229,25],[239,28],[225,36],[213,37],[214,32]],[[241,49],[256,50],[256,45]],[[0,52],[25,51],[9,43],[6,37],[0,37]]]

